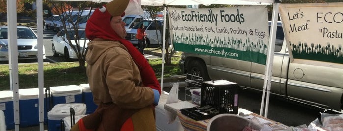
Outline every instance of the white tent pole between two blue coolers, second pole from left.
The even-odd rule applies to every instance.
[[[44,131],[44,71],[43,71],[43,1],[36,0],[37,6],[37,44],[38,44],[38,110],[39,110],[39,131]]]

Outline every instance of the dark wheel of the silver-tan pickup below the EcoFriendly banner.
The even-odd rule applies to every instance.
[[[188,63],[187,66],[187,74],[192,74],[195,76],[202,77],[204,81],[209,81],[209,75],[207,73],[207,69],[205,63],[199,60],[192,60]],[[196,79],[193,76],[187,76],[187,79]]]

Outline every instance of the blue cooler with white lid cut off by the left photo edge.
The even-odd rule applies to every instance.
[[[3,111],[7,130],[14,129],[13,92],[0,91],[0,110]]]

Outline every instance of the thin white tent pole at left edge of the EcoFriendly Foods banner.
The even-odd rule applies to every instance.
[[[165,31],[165,28],[166,28],[166,16],[167,16],[167,6],[164,4],[163,5],[164,7],[164,11],[163,11],[163,48],[162,48],[162,76],[161,76],[161,91],[163,92],[163,76],[164,76],[164,63],[165,63],[165,34],[166,34],[166,31]]]

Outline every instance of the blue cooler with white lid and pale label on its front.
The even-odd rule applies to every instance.
[[[82,103],[82,88],[78,85],[50,87],[52,106],[62,103]]]

